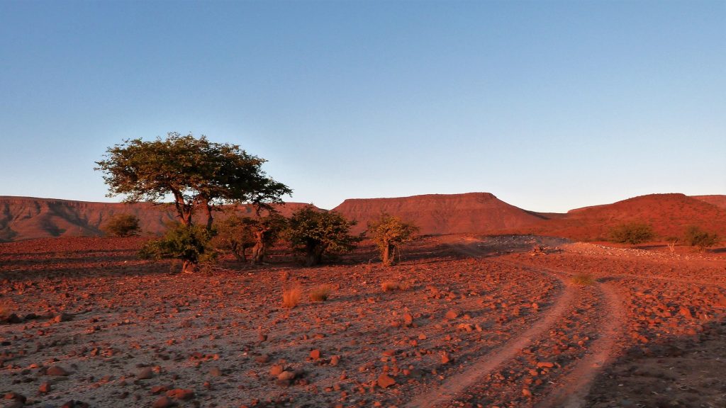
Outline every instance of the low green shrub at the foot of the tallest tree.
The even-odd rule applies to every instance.
[[[181,271],[196,272],[200,261],[211,261],[216,252],[209,242],[213,232],[197,225],[174,224],[164,237],[144,244],[139,256],[145,259],[179,259]]]

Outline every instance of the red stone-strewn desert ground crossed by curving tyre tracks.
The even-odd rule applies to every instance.
[[[444,236],[187,275],[140,243],[0,244],[0,407],[726,406],[723,253]]]

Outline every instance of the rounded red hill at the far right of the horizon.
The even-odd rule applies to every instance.
[[[568,211],[564,218],[539,221],[509,232],[604,240],[612,227],[628,222],[650,224],[659,237],[682,236],[690,225],[726,235],[724,209],[682,194],[643,195],[612,204],[576,208]]]

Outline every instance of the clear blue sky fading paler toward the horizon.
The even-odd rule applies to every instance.
[[[726,194],[726,1],[0,1],[0,195],[120,200],[168,131],[322,208]]]

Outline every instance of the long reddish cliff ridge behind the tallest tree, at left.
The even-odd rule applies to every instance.
[[[282,215],[289,216],[303,205],[287,203],[279,209]],[[250,206],[242,206],[240,210],[253,215]],[[0,196],[0,242],[45,237],[95,237],[102,235],[102,225],[119,213],[131,213],[139,217],[144,235],[162,234],[166,231],[166,223],[176,219],[176,211],[170,204],[89,203]],[[220,213],[214,215],[221,216]]]

